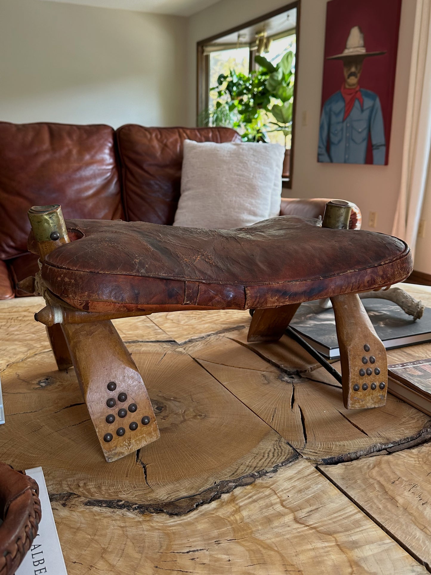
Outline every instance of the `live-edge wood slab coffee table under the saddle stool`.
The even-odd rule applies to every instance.
[[[431,305],[431,288],[407,286]],[[247,343],[248,312],[114,321],[160,440],[106,463],[41,298],[0,304],[0,460],[42,466],[69,575],[426,573],[431,419],[388,395],[348,411],[287,336]],[[431,356],[431,344],[388,362]]]

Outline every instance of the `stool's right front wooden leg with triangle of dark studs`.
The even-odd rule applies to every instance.
[[[386,349],[357,294],[330,299],[340,347],[344,407],[381,407],[387,393]]]

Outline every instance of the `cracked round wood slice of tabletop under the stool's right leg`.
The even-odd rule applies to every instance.
[[[213,336],[184,349],[303,457],[337,463],[428,438],[429,416],[394,396],[384,407],[345,409],[340,384],[323,368],[308,374],[317,381],[280,373],[230,337]]]

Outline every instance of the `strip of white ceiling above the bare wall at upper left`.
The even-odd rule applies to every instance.
[[[153,14],[173,14],[174,16],[191,16],[218,0],[45,0],[66,4],[81,4],[98,8],[117,8],[136,10]]]

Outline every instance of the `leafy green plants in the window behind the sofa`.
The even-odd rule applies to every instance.
[[[217,90],[216,105],[201,116],[201,123],[236,128],[244,141],[269,141],[270,132],[283,132],[287,138],[292,131],[293,59],[289,51],[274,65],[256,55],[258,70],[220,74],[211,88]]]

